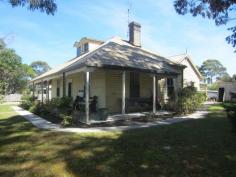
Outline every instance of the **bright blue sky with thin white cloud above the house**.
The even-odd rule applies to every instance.
[[[130,3],[132,2],[132,3]],[[0,1],[0,37],[24,63],[36,60],[51,67],[75,57],[74,42],[82,37],[108,40],[127,39],[130,21],[139,22],[142,46],[168,57],[187,53],[198,66],[217,59],[230,75],[236,73],[236,53],[227,44],[227,30],[233,24],[216,26],[214,21],[178,15],[173,0],[57,0],[54,16],[27,8],[12,8]]]

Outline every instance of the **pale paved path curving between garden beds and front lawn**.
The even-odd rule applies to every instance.
[[[13,106],[13,109],[25,119],[30,121],[33,125],[40,129],[46,130],[54,130],[60,132],[75,132],[75,133],[89,133],[89,132],[106,132],[106,131],[125,131],[130,129],[137,129],[137,128],[147,128],[153,126],[160,126],[160,125],[170,125],[178,122],[183,122],[186,120],[191,119],[200,119],[204,118],[206,114],[208,114],[207,108],[209,105],[214,104],[212,102],[205,102],[204,105],[198,109],[195,113],[187,115],[187,116],[176,116],[173,118],[168,118],[165,120],[157,120],[154,122],[148,123],[137,123],[134,125],[127,125],[127,126],[116,126],[116,127],[92,127],[92,128],[62,128],[57,124],[53,124],[33,113],[26,111],[18,106]]]

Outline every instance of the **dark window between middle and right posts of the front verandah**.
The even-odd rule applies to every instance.
[[[130,73],[130,97],[138,98],[140,96],[139,73]]]

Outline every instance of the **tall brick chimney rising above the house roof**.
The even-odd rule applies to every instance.
[[[129,43],[141,47],[141,25],[137,22],[129,24]]]

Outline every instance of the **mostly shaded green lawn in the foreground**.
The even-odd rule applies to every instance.
[[[0,176],[235,177],[236,135],[210,110],[170,126],[74,134],[41,131],[0,105]]]

